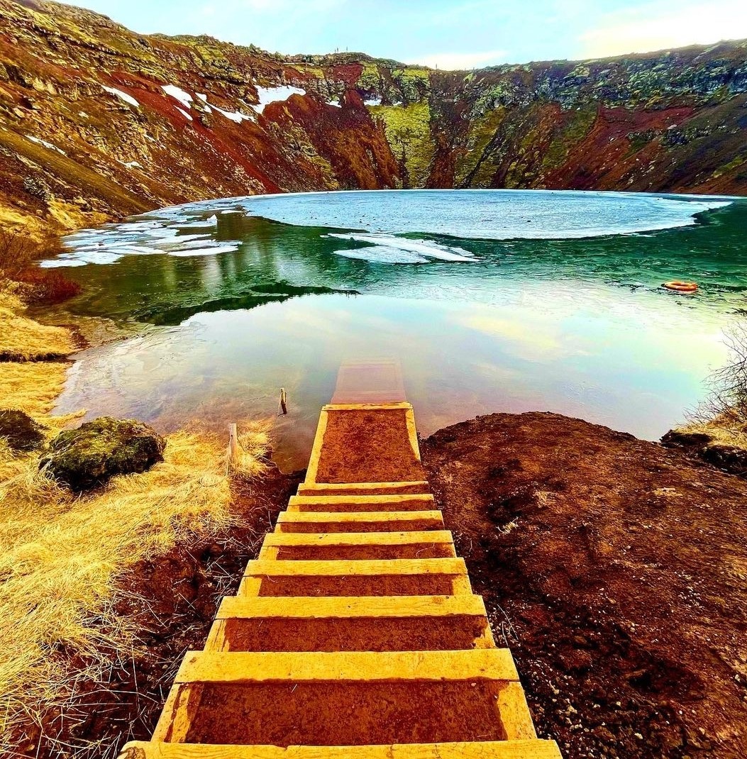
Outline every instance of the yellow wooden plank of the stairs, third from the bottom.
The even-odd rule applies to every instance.
[[[487,616],[481,596],[226,596],[216,619]]]

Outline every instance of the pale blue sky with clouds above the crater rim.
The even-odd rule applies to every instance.
[[[747,0],[79,0],[140,33],[438,68],[600,58],[747,38]]]

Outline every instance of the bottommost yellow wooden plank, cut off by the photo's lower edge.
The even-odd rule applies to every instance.
[[[561,759],[554,741],[479,741],[378,746],[245,746],[132,741],[121,759]]]

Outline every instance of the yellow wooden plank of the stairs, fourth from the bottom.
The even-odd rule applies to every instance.
[[[254,559],[247,562],[244,577],[295,577],[310,575],[466,575],[464,559]]]

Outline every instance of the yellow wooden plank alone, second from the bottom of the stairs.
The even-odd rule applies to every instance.
[[[188,651],[175,684],[378,680],[518,681],[507,648],[460,651]]]

